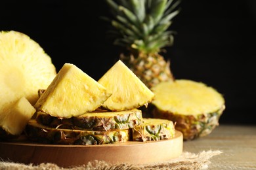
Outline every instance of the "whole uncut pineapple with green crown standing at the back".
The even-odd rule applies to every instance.
[[[173,44],[168,28],[179,13],[180,1],[172,0],[106,0],[112,14],[106,18],[112,25],[114,44],[125,47],[120,59],[148,88],[159,82],[174,80],[170,61],[160,52]]]

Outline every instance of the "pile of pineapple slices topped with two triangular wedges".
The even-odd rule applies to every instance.
[[[173,122],[142,118],[138,108],[154,93],[121,61],[96,82],[65,63],[46,90],[39,90],[28,139],[53,144],[158,141],[175,135]]]

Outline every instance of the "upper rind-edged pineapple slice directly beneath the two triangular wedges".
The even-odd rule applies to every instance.
[[[139,109],[108,112],[97,109],[72,118],[56,118],[37,112],[37,123],[62,129],[87,129],[108,131],[110,129],[129,129],[142,124],[142,112]]]

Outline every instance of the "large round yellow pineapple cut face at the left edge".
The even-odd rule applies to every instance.
[[[56,76],[51,58],[27,35],[0,31],[0,114],[20,97],[32,105]]]

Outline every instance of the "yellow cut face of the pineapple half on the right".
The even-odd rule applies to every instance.
[[[197,116],[219,110],[224,105],[223,96],[202,82],[161,82],[152,90],[156,94],[152,104],[173,114]]]

